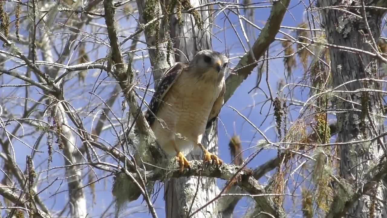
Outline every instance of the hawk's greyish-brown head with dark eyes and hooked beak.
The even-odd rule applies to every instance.
[[[197,52],[189,65],[196,69],[195,73],[206,78],[221,80],[227,67],[228,59],[223,54],[212,50]]]

